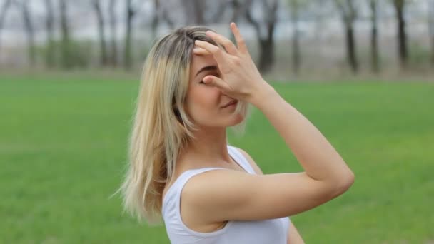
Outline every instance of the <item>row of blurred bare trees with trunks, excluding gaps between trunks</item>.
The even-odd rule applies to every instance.
[[[425,2],[423,2],[425,1]],[[301,54],[300,22],[313,18],[318,11],[330,9],[330,16],[338,14],[345,35],[345,53],[348,67],[357,73],[360,61],[357,55],[355,23],[358,19],[370,21],[370,69],[381,71],[378,23],[384,9],[393,9],[395,18],[396,43],[400,68],[408,66],[408,6],[425,4],[430,40],[430,62],[434,64],[434,0],[3,0],[0,1],[0,55],[1,31],[15,9],[20,13],[22,28],[26,33],[26,46],[29,66],[37,60],[44,60],[46,68],[70,69],[89,65],[89,45],[76,41],[71,31],[77,18],[94,18],[99,44],[99,66],[122,67],[126,70],[133,66],[132,43],[136,19],[141,19],[151,29],[153,38],[161,25],[175,29],[184,25],[211,25],[242,21],[250,24],[256,31],[258,43],[258,67],[269,71],[275,61],[276,24],[282,19],[291,21],[291,64],[293,73],[298,73],[303,63]],[[279,15],[285,11],[286,18]],[[77,13],[83,12],[79,15]],[[80,21],[84,23],[86,21]],[[118,30],[123,29],[122,33]],[[18,28],[18,27],[16,27]],[[42,50],[37,51],[36,31],[44,31],[45,40]],[[56,35],[58,34],[58,35]],[[123,37],[119,37],[122,34]],[[153,39],[152,38],[152,39]],[[121,41],[119,41],[121,40]],[[39,45],[40,46],[40,45]],[[43,56],[43,59],[36,59]]]

